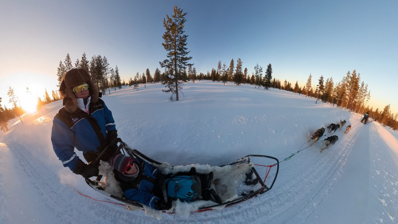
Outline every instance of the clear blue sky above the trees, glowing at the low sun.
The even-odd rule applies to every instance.
[[[166,59],[163,18],[186,12],[187,48],[198,73],[242,59],[251,74],[272,64],[273,77],[313,86],[356,69],[370,104],[398,112],[398,1],[20,1],[0,7],[0,97],[29,87],[56,89],[57,67],[86,52],[108,58],[122,79]],[[161,69],[163,71],[163,69]],[[41,90],[36,90],[35,88]],[[22,90],[20,90],[22,89]],[[18,91],[17,91],[18,90]]]

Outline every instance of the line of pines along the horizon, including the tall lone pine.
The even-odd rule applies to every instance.
[[[167,19],[164,18],[163,20],[163,26],[166,28],[166,31],[163,34],[164,43],[162,43],[162,45],[168,53],[166,54],[167,59],[159,62],[159,64],[160,67],[164,68],[164,72],[161,73],[160,70],[156,68],[154,76],[152,77],[149,69],[146,69],[142,75],[137,72],[134,79],[131,77],[125,82],[124,80],[121,81],[117,65],[115,69],[111,68],[105,56],[94,55],[91,61],[88,61],[86,53],[83,53],[81,59],[79,60],[78,58],[73,66],[68,53],[64,62],[60,61],[57,68],[58,86],[60,85],[63,75],[73,68],[85,69],[103,94],[106,94],[106,90],[110,93],[110,88],[116,90],[117,88],[121,89],[122,86],[129,85],[134,86],[133,89],[138,90],[139,84],[161,82],[167,88],[162,91],[172,93],[169,99],[179,100],[178,93],[182,93],[183,84],[188,81],[195,83],[196,80],[211,80],[224,84],[228,82],[236,85],[251,84],[254,85],[255,88],[262,86],[264,89],[269,89],[272,87],[303,94],[308,97],[314,97],[317,100],[322,100],[322,102],[333,104],[333,106],[337,104],[337,107],[345,110],[348,109],[349,112],[362,114],[364,111],[369,110],[374,120],[378,120],[383,125],[394,128],[394,130],[398,129],[398,113],[394,116],[390,111],[390,105],[385,106],[383,111],[379,111],[378,108],[373,111],[373,107],[369,108],[367,102],[370,99],[370,90],[368,91],[367,84],[365,85],[364,82],[360,83],[360,74],[358,73],[357,75],[355,70],[353,70],[352,73],[348,71],[346,76],[336,84],[334,84],[332,77],[328,78],[324,83],[324,77],[321,75],[315,90],[312,87],[311,74],[303,87],[298,86],[298,81],[296,81],[293,87],[287,80],[281,84],[279,79],[272,79],[271,63],[267,65],[264,74],[263,68],[257,63],[254,67],[254,72],[252,72],[250,76],[248,69],[243,69],[243,62],[240,58],[236,61],[236,67],[234,65],[234,59],[231,59],[229,66],[227,66],[226,63],[221,64],[221,61],[219,61],[217,69],[212,68],[211,72],[207,71],[206,74],[197,74],[196,68],[193,67],[194,64],[188,63],[192,57],[187,56],[190,52],[187,51],[186,48],[188,36],[183,34],[186,13],[182,11],[183,10],[177,6],[174,6],[174,15],[169,17],[166,14]],[[41,100],[39,97],[40,104],[46,104],[62,98],[59,91],[53,91],[52,96],[53,99],[49,97],[46,90],[44,100]],[[18,107],[14,104],[14,109],[16,108]],[[0,119],[2,117],[2,110],[0,104]],[[15,116],[17,114],[17,112],[14,112]]]

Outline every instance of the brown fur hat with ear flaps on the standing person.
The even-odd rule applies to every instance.
[[[73,88],[82,84],[88,83],[91,102],[98,101],[98,89],[94,82],[91,80],[90,75],[84,69],[70,69],[62,77],[59,91],[64,97],[62,104],[65,106],[65,110],[68,112],[74,112],[77,110],[77,100],[73,92]]]

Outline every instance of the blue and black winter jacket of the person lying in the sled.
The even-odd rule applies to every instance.
[[[133,158],[133,161],[140,167],[137,178],[127,178],[118,171],[115,171],[115,178],[117,181],[121,182],[123,193],[127,199],[140,202],[141,204],[156,209],[155,201],[160,199],[156,196],[160,193],[154,193],[154,191],[160,190],[160,186],[158,186],[160,183],[156,181],[158,169],[141,159],[137,160]],[[143,169],[141,169],[141,167]]]

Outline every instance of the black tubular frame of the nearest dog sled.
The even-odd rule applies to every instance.
[[[158,165],[162,164],[162,163],[159,163],[158,161],[155,161],[154,159],[151,159],[151,158],[147,157],[146,155],[142,154],[137,149],[131,148],[129,145],[127,145],[125,142],[123,142],[120,138],[119,138],[119,142],[120,142],[119,149],[123,149],[123,153],[127,153],[130,157],[140,157],[141,159],[145,159],[146,161],[148,161],[150,163],[155,163],[155,164],[158,164]],[[224,206],[224,205],[225,205],[225,207],[229,207],[229,206],[232,206],[234,204],[239,204],[240,202],[244,202],[244,201],[249,200],[251,198],[254,198],[254,197],[257,197],[259,195],[262,195],[263,193],[271,190],[271,188],[273,187],[273,185],[275,183],[275,180],[276,180],[276,177],[277,177],[278,171],[279,171],[279,160],[277,158],[275,158],[275,157],[271,157],[271,156],[267,156],[267,155],[247,155],[245,157],[242,157],[242,158],[238,159],[235,162],[224,164],[224,165],[220,165],[219,167],[223,167],[223,166],[226,166],[226,165],[235,165],[235,164],[239,164],[239,163],[250,163],[251,162],[250,158],[259,158],[259,159],[268,158],[270,161],[272,161],[271,165],[259,165],[259,166],[261,166],[261,168],[266,167],[266,171],[265,171],[266,175],[265,175],[264,179],[262,179],[260,177],[260,175],[259,175],[258,171],[255,169],[255,167],[251,167],[250,174],[254,178],[252,178],[250,180],[246,180],[246,183],[250,182],[251,185],[259,183],[261,185],[261,187],[259,189],[255,190],[255,191],[250,191],[250,192],[248,192],[248,193],[246,193],[244,195],[241,195],[238,198],[235,198],[232,201],[224,202],[224,203],[221,203],[221,204],[216,204],[216,205],[213,205],[213,206],[202,207],[202,208],[199,208],[198,210],[192,211],[192,212],[203,212],[203,211],[207,211],[207,210],[213,210],[215,207]],[[258,164],[254,164],[254,165],[258,165]],[[276,166],[276,170],[275,170],[274,175],[273,175],[273,177],[271,179],[271,184],[267,186],[265,184],[265,180],[267,179],[269,171],[274,166]],[[100,175],[100,176],[98,176],[96,178],[96,181],[100,181],[101,179],[102,179],[102,176]],[[115,195],[111,195],[111,194],[107,193],[106,191],[104,191],[104,189],[102,187],[96,187],[95,186],[96,183],[94,181],[92,181],[91,179],[86,178],[86,183],[90,187],[92,187],[94,190],[99,191],[101,194],[103,194],[105,196],[108,196],[108,197],[112,198],[113,200],[117,200],[117,201],[125,203],[127,205],[132,205],[132,206],[136,206],[136,207],[139,207],[139,208],[143,208],[142,204],[140,204],[138,202],[127,200],[127,199],[124,199],[124,198],[119,198],[119,197],[117,197]],[[167,213],[174,213],[174,212],[167,212]]]

